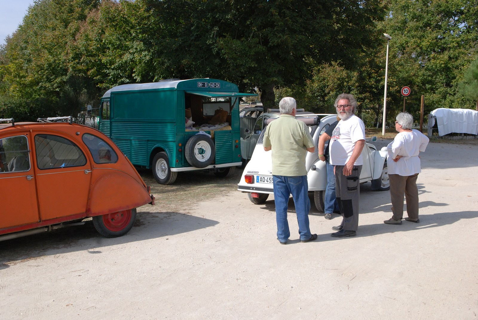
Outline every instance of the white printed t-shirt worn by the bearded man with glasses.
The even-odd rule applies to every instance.
[[[355,143],[359,140],[365,140],[365,125],[359,117],[353,114],[346,120],[338,121],[330,138],[330,164],[345,166],[354,151]],[[361,165],[363,165],[363,160],[360,153],[354,166]]]

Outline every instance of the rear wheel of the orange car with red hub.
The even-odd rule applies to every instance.
[[[136,221],[136,209],[129,209],[93,217],[96,231],[104,237],[115,238],[128,233]]]

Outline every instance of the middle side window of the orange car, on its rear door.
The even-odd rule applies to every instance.
[[[39,169],[84,166],[85,154],[72,141],[53,134],[35,135],[36,165]]]

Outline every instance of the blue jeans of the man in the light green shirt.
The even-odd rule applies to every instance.
[[[277,221],[277,239],[286,242],[291,236],[287,222],[287,207],[292,194],[295,214],[299,224],[300,240],[308,240],[312,236],[309,228],[309,186],[307,176],[287,177],[272,176],[274,181],[275,216]]]

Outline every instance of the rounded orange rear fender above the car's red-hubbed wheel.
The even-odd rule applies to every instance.
[[[88,217],[133,209],[151,202],[147,189],[122,171],[93,169],[92,173]]]

